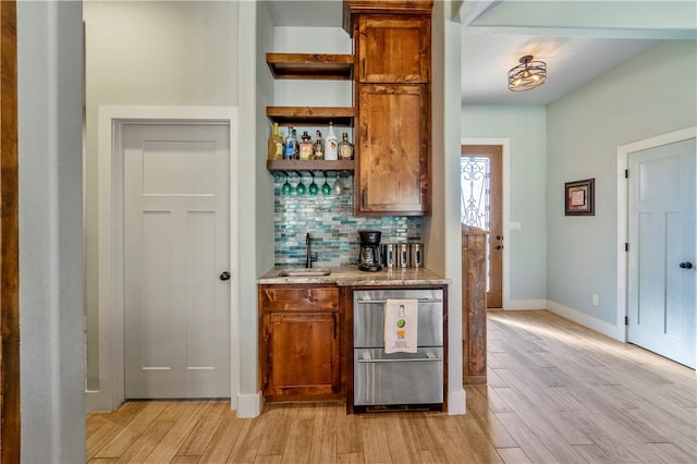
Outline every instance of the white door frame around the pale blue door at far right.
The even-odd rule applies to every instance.
[[[629,182],[625,178],[628,167],[628,157],[633,151],[646,150],[660,147],[661,145],[697,138],[697,126],[669,132],[668,134],[633,142],[617,147],[617,333],[622,334],[622,341],[627,342],[628,327],[624,323],[627,317],[627,279],[628,279],[628,257],[625,252],[625,244],[629,240]],[[695,173],[697,176],[697,172]]]

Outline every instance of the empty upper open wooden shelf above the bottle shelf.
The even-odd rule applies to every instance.
[[[274,78],[331,80],[353,78],[353,54],[266,53]]]

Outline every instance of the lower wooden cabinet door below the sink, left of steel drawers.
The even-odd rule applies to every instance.
[[[339,393],[339,343],[335,313],[270,313],[267,329],[268,396]]]

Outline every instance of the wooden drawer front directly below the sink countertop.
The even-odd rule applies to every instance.
[[[268,312],[338,312],[337,286],[260,285],[259,306]]]

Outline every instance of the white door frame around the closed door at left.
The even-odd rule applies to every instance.
[[[239,168],[236,107],[98,108],[99,390],[87,391],[87,411],[112,411],[124,399],[123,149],[121,131],[133,122],[196,122],[230,125],[230,398],[240,391]]]

